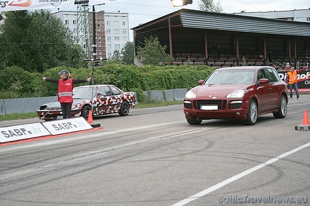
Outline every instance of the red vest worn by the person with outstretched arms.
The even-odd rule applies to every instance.
[[[73,79],[58,80],[58,101],[60,103],[72,103]]]

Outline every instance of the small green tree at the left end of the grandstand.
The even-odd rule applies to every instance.
[[[173,58],[166,54],[167,46],[160,45],[158,37],[144,39],[145,47],[138,47],[137,57],[144,65],[159,65],[159,62],[170,63]]]

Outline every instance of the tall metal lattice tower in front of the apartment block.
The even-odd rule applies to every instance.
[[[90,21],[89,21],[89,1],[75,0],[77,4],[77,44],[81,45],[88,58],[91,58],[90,49]]]

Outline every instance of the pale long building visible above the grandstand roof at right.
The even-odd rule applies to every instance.
[[[233,13],[243,16],[262,17],[268,19],[282,19],[297,22],[310,22],[310,8],[309,9],[294,9],[290,11],[265,11],[265,12],[246,12]]]

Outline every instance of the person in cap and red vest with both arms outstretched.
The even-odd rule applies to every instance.
[[[88,79],[72,79],[70,74],[66,70],[62,70],[60,73],[60,79],[42,77],[44,81],[58,83],[58,101],[61,103],[63,119],[71,118],[71,106],[73,103],[72,90],[73,84],[85,83],[92,80],[92,77]]]

